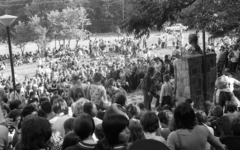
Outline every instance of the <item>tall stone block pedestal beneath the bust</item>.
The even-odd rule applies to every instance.
[[[191,98],[194,107],[204,109],[205,101],[212,101],[217,78],[216,54],[206,55],[207,99],[204,100],[203,56],[184,56],[176,62],[175,84],[178,103]]]

